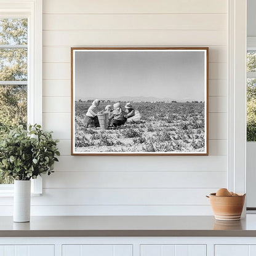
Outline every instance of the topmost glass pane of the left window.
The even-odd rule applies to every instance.
[[[0,44],[28,44],[28,19],[0,18]]]

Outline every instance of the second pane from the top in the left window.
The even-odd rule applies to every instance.
[[[0,49],[0,56],[0,81],[27,81],[27,49]]]

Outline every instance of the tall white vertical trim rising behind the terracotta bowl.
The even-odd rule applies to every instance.
[[[228,189],[237,193],[246,193],[247,2],[230,0],[228,7]]]

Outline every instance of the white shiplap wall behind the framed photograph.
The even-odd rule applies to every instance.
[[[62,156],[32,214],[212,214],[205,195],[227,186],[227,20],[225,0],[44,0],[43,126]],[[209,156],[70,156],[74,46],[209,46]]]

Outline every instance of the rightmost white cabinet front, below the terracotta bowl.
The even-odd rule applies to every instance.
[[[255,245],[228,244],[216,245],[215,256],[255,256]]]

